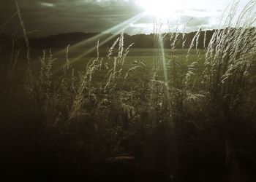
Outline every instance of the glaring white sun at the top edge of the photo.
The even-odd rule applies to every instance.
[[[178,9],[182,9],[183,0],[138,0],[140,7],[147,15],[154,17],[171,17]]]

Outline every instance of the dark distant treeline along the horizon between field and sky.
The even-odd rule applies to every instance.
[[[225,29],[227,30],[227,29]],[[222,30],[222,31],[225,31]],[[234,29],[235,30],[235,29]],[[209,44],[209,41],[211,40],[211,37],[213,36],[214,32],[217,30],[209,30],[209,31],[200,31],[200,33],[197,35],[197,48],[203,49],[204,47],[207,47]],[[252,28],[252,31],[255,31],[255,28]],[[233,31],[231,31],[233,32]],[[191,32],[191,33],[163,33],[163,44],[165,48],[170,48],[172,45],[170,42],[173,42],[173,39],[176,39],[175,47],[178,49],[183,48],[189,48],[190,44],[192,43],[193,39],[195,38],[195,35],[198,32]],[[85,48],[91,48],[96,45],[98,39],[100,44],[100,47],[111,47],[113,42],[116,40],[116,38],[119,35],[113,35],[111,33],[81,33],[81,32],[75,32],[75,33],[60,33],[53,36],[45,36],[41,38],[35,38],[30,37],[30,46],[32,48],[58,48],[58,47],[67,47],[68,44],[75,45],[78,43],[79,47],[85,47]],[[129,44],[134,44],[133,48],[154,48],[156,47],[156,34],[137,34],[137,35],[128,35],[124,34],[124,46],[127,47]],[[17,41],[16,46],[23,47],[25,46],[24,41],[22,38],[16,38]],[[6,36],[4,34],[0,35],[0,43],[1,47],[4,48],[10,48],[12,47],[12,38],[10,36]]]

